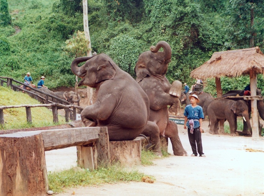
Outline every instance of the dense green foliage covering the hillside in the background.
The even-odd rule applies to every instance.
[[[92,50],[108,54],[135,78],[140,53],[158,41],[172,48],[167,78],[189,86],[190,72],[213,52],[263,46],[262,1],[256,0],[88,0]],[[73,86],[74,59],[64,53],[65,41],[83,31],[81,0],[8,0],[12,25],[0,29],[0,75],[20,81],[31,72],[44,75],[50,88]],[[251,23],[252,13],[254,16]],[[19,31],[21,29],[21,31]],[[253,41],[253,42],[252,42]],[[243,89],[248,76],[221,78],[223,92]],[[204,81],[215,95],[214,80]],[[264,91],[263,77],[258,87]]]

